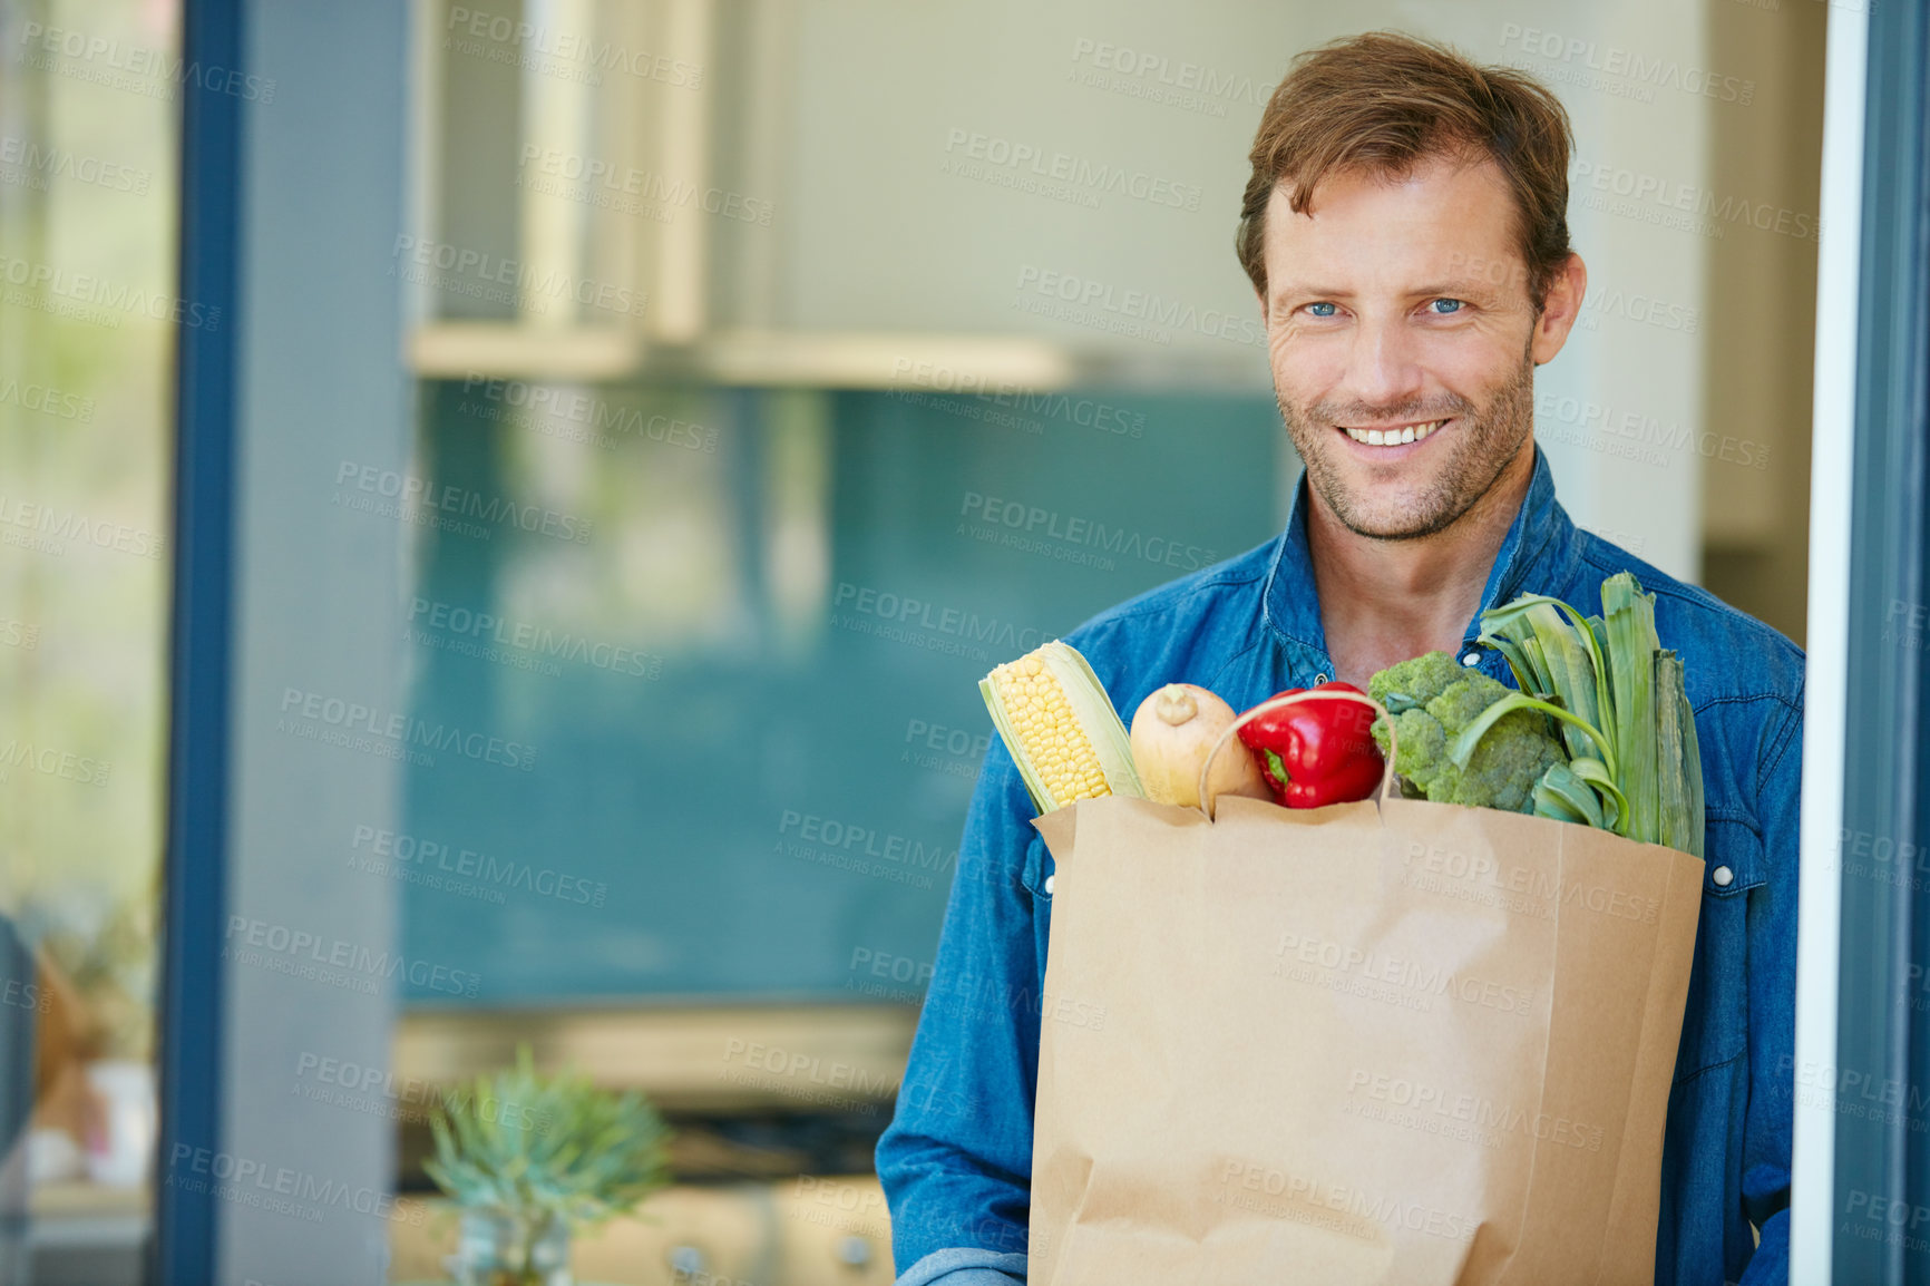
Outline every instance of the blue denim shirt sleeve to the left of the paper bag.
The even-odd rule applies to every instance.
[[[1021,873],[1031,846],[1044,846],[1031,819],[1025,782],[992,738],[897,1108],[878,1139],[892,1259],[907,1282],[1025,1280],[1040,946]],[[973,1255],[940,1255],[959,1249]],[[919,1274],[928,1257],[942,1276]]]

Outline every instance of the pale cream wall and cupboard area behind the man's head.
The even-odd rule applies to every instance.
[[[1231,232],[1260,106],[1295,50],[1388,25],[1542,75],[1575,122],[1569,218],[1590,268],[1590,307],[1538,375],[1540,438],[1577,521],[1666,572],[1696,575],[1700,328],[1708,257],[1722,241],[1706,218],[1666,201],[1704,183],[1712,120],[1768,126],[1739,102],[1756,75],[1749,68],[1714,68],[1710,95],[1691,93],[1710,62],[1702,10],[878,2],[799,6],[789,21],[793,110],[774,116],[786,129],[772,174],[786,214],[776,319],[1040,334],[1123,351],[1119,378],[1266,386]],[[1200,89],[1158,100],[1162,75]],[[1048,160],[994,164],[1021,147]],[[1143,174],[1148,193],[1179,193],[1181,207],[1096,178],[1038,183],[1033,168],[1050,178],[1052,156],[1073,176]],[[1027,182],[1036,189],[1013,187]],[[1090,284],[1096,305],[1077,311],[1040,290],[1046,272],[1077,278],[1081,297]],[[1127,292],[1177,303],[1193,324],[1135,334]]]

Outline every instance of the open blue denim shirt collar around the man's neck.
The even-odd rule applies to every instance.
[[[1293,516],[1287,517],[1287,529],[1280,537],[1280,554],[1266,577],[1260,610],[1276,635],[1326,657],[1326,628],[1320,624],[1320,597],[1314,593],[1314,566],[1307,548],[1309,504],[1303,473],[1293,492]],[[1521,500],[1515,521],[1509,523],[1507,537],[1488,570],[1480,608],[1469,622],[1463,643],[1473,643],[1480,633],[1480,612],[1515,599],[1525,585],[1559,593],[1569,579],[1571,568],[1567,564],[1579,556],[1575,523],[1556,500],[1554,473],[1548,469],[1542,448],[1536,446],[1529,494]]]

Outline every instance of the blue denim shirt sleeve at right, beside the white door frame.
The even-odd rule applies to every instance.
[[[1756,1245],[1743,1286],[1789,1282],[1789,1151],[1797,1043],[1797,801],[1803,794],[1803,693],[1766,738],[1756,790],[1768,879],[1749,898],[1749,1108],[1743,1118],[1743,1215]]]

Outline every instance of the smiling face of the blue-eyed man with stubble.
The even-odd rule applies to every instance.
[[[1274,191],[1274,392],[1312,490],[1349,531],[1434,535],[1527,450],[1534,363],[1567,326],[1550,348],[1513,228],[1488,160],[1436,158],[1399,182],[1334,174],[1309,214]]]

